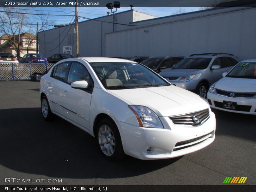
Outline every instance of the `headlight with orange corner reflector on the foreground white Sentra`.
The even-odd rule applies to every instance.
[[[159,117],[150,108],[139,105],[128,105],[138,119],[140,127],[164,128]]]

